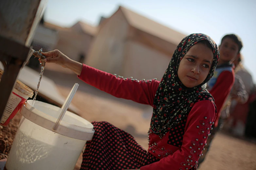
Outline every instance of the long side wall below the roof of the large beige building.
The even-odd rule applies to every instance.
[[[124,72],[121,76],[126,78],[132,76],[138,80],[162,79],[170,62],[170,56],[133,40],[126,43],[126,48]]]

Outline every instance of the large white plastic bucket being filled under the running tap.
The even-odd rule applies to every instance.
[[[32,100],[22,106],[23,115],[8,159],[7,170],[74,170],[93,125],[67,111],[58,129],[53,130],[61,108]]]

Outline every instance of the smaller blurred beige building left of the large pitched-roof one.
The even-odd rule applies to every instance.
[[[55,49],[60,50],[71,59],[83,62],[86,60],[90,44],[97,34],[97,28],[84,22],[77,22],[65,28],[44,22],[44,26],[58,30],[58,42]]]

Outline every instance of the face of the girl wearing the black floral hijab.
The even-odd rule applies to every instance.
[[[206,45],[193,45],[181,59],[178,68],[178,77],[188,88],[202,84],[207,78],[213,63],[213,51]]]

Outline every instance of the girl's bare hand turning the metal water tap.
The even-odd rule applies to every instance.
[[[66,55],[64,55],[62,52],[60,52],[59,50],[42,52],[42,54],[46,57],[44,59],[45,63],[56,63],[66,68],[67,65],[71,62],[71,59],[68,58]],[[42,62],[40,61],[40,63]]]

